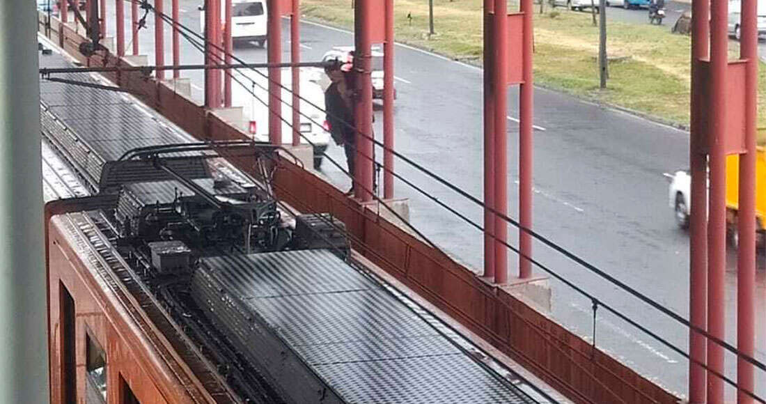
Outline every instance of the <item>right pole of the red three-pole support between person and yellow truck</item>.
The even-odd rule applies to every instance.
[[[535,86],[532,75],[532,15],[535,13],[532,0],[522,0],[521,11],[524,13],[522,44],[522,80],[519,89],[519,224],[522,228],[532,229],[532,154],[533,127],[535,108]],[[532,277],[532,235],[519,229],[519,278]]]

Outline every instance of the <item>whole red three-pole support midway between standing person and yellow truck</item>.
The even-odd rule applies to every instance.
[[[532,276],[532,0],[522,0],[522,57],[519,89],[519,278]],[[505,1],[484,0],[484,274],[508,281],[508,85],[509,18]],[[518,72],[517,72],[518,73]],[[495,213],[495,212],[497,213]]]

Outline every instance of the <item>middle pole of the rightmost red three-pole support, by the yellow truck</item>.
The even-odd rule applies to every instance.
[[[710,41],[710,213],[708,222],[708,332],[724,339],[726,271],[726,69],[728,0],[711,2]],[[724,372],[723,347],[708,340],[708,366]],[[723,402],[723,380],[708,373],[708,402]]]

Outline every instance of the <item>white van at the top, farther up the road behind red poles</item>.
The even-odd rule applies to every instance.
[[[221,20],[225,15],[225,2],[221,2]],[[198,7],[200,31],[205,33],[205,4]],[[265,0],[233,0],[231,2],[231,39],[234,44],[254,42],[264,48],[267,35],[267,8]]]

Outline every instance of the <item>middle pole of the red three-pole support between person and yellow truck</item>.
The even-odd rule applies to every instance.
[[[495,97],[495,209],[500,214],[508,212],[508,5],[495,2],[493,34],[493,67]],[[508,281],[508,223],[500,215],[495,216],[495,282]]]

